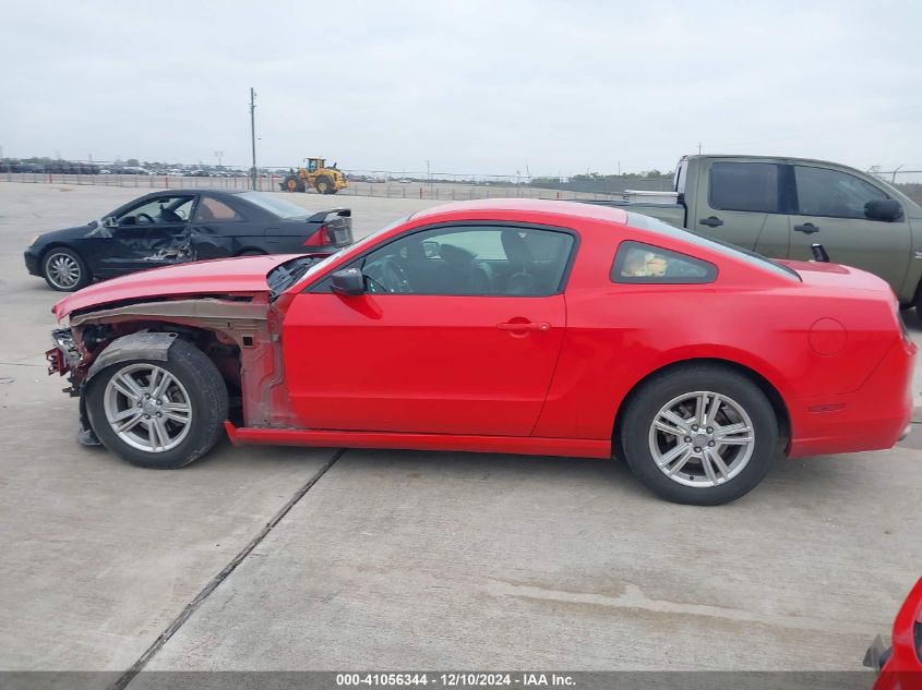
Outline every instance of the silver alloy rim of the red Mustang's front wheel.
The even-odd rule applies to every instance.
[[[192,428],[192,403],[185,387],[156,364],[129,364],[116,372],[103,394],[106,421],[132,448],[165,452]]]

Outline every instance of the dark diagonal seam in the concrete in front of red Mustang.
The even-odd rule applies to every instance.
[[[311,487],[313,487],[313,485],[320,481],[320,477],[326,474],[326,471],[330,470],[330,468],[332,468],[334,464],[336,464],[336,461],[343,457],[346,450],[346,448],[340,448],[335,453],[333,453],[333,457],[320,470],[318,470],[313,474],[313,476],[311,476],[311,479],[309,479],[297,492],[295,492],[295,495],[291,496],[291,498],[289,498],[288,501],[282,508],[278,509],[278,511],[272,517],[272,519],[266,522],[265,526],[263,526],[263,529],[260,530],[259,533],[253,538],[251,538],[247,543],[247,545],[243,546],[243,548],[238,552],[238,554],[230,560],[230,562],[228,562],[224,568],[221,568],[220,572],[218,572],[214,578],[208,581],[208,583],[204,588],[202,588],[199,594],[196,594],[195,597],[185,605],[179,616],[173,618],[172,622],[170,622],[170,625],[167,626],[167,628],[157,637],[157,639],[154,640],[151,646],[148,646],[144,651],[144,653],[140,657],[137,657],[137,661],[134,662],[134,664],[132,664],[128,670],[125,670],[121,676],[116,679],[112,685],[109,686],[108,690],[124,690],[124,688],[128,687],[128,685],[132,680],[134,680],[135,676],[137,676],[137,674],[144,670],[144,667],[147,665],[147,663],[152,658],[154,658],[157,652],[159,652],[160,649],[170,640],[170,638],[172,638],[172,635],[175,635],[179,631],[179,629],[185,624],[185,621],[192,617],[192,614],[194,614],[199,609],[199,607],[205,603],[205,600],[211,596],[212,592],[214,592],[218,588],[218,585],[224,582],[230,576],[230,573],[237,569],[237,566],[243,562],[243,560],[246,560],[246,558],[253,552],[253,549],[256,548],[256,546],[259,546],[266,536],[268,536],[270,532],[272,532],[275,525],[282,522],[282,520],[285,518],[285,516],[288,515],[291,508],[297,506],[298,501],[300,501],[304,497],[304,495],[311,489]]]

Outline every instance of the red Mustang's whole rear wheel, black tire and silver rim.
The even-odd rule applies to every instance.
[[[765,394],[714,365],[672,370],[643,384],[620,431],[624,457],[648,488],[699,506],[752,491],[778,445],[778,421]]]

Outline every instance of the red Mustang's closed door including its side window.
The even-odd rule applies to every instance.
[[[527,436],[566,327],[565,230],[438,227],[351,264],[366,292],[327,277],[285,317],[291,403],[310,428]]]

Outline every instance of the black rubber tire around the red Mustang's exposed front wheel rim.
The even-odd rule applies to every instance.
[[[178,338],[170,346],[168,356],[166,362],[135,360],[107,366],[93,377],[85,394],[89,425],[96,436],[106,448],[141,468],[173,470],[197,460],[215,445],[227,419],[227,386],[214,363],[201,350]],[[191,409],[189,431],[176,447],[156,452],[136,448],[123,440],[109,424],[105,408],[108,384],[113,376],[132,365],[166,370],[184,388]],[[153,435],[153,432],[147,434]]]

